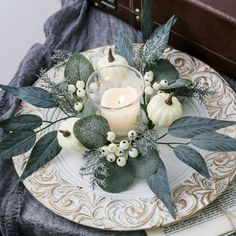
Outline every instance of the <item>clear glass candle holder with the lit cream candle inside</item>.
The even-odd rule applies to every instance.
[[[140,121],[144,78],[135,68],[112,65],[95,71],[88,79],[86,93],[117,136],[127,133]]]

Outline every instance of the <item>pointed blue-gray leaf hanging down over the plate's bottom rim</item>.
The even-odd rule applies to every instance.
[[[175,209],[172,202],[168,176],[165,165],[161,160],[157,172],[147,179],[147,183],[153,193],[164,203],[171,216],[175,218]]]

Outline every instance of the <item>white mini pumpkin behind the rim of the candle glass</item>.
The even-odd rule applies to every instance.
[[[112,53],[112,49],[109,49],[108,56],[99,58],[96,63],[97,70],[101,70],[104,67],[108,66],[128,66],[127,60],[120,56]],[[103,80],[108,81],[109,79],[122,80],[127,74],[127,68],[124,67],[111,67],[106,68],[100,71],[100,76]]]

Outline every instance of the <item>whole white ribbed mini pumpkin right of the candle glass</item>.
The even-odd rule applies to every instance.
[[[147,113],[153,124],[169,127],[182,116],[182,106],[173,93],[158,93],[148,103]]]

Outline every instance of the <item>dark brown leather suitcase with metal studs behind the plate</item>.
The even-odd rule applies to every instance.
[[[90,0],[140,28],[143,0]],[[170,45],[236,77],[236,0],[152,0],[154,25],[176,15]]]

